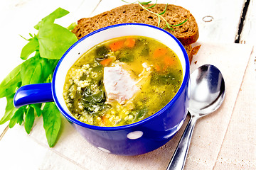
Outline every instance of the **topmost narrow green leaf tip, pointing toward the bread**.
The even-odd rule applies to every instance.
[[[61,18],[65,15],[67,15],[68,13],[69,13],[69,11],[66,11],[63,8],[57,8],[55,11],[53,11],[48,16],[43,18],[42,21],[40,21],[38,24],[36,24],[36,26],[34,26],[34,28],[36,28],[36,30],[38,30],[41,26],[43,26],[46,23],[54,23],[55,19]]]

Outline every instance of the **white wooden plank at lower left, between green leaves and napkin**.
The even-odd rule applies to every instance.
[[[44,132],[41,132],[44,135]],[[0,141],[1,169],[77,169],[82,165],[54,152],[43,142],[33,140],[23,126],[10,129]]]

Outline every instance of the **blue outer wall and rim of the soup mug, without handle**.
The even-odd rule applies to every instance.
[[[124,23],[114,26],[109,26],[107,28],[115,26],[124,26],[124,25],[143,25],[148,27],[153,27],[155,29],[161,29],[154,26],[149,26],[141,23]],[[102,28],[96,30],[95,32],[86,35],[81,40],[85,39],[87,36],[93,35],[99,31],[105,30],[107,28]],[[162,30],[166,32],[166,30]],[[76,120],[68,113],[64,111],[58,98],[55,94],[55,74],[58,71],[61,61],[58,63],[55,72],[53,74],[53,98],[56,103],[56,106],[61,113],[68,119],[70,123],[74,126],[80,134],[85,137],[85,139],[90,142],[92,145],[98,148],[103,148],[105,151],[109,151],[112,154],[121,154],[121,155],[138,155],[144,154],[146,152],[151,152],[154,149],[161,147],[166,144],[171,138],[176,134],[176,132],[181,128],[183,121],[186,118],[187,108],[188,108],[188,84],[189,84],[189,61],[186,50],[184,49],[181,42],[179,42],[173,35],[166,32],[170,35],[183,51],[183,55],[186,60],[186,73],[181,88],[178,90],[178,93],[174,98],[164,107],[161,111],[151,115],[149,118],[141,120],[138,123],[133,123],[131,125],[119,126],[119,127],[97,127],[93,125],[88,125],[85,123]],[[78,44],[81,40],[75,43]],[[66,52],[68,53],[75,45],[70,47]],[[66,53],[63,55],[65,57]],[[127,138],[129,132],[141,131],[143,132],[142,137],[139,137],[136,140],[131,140]]]

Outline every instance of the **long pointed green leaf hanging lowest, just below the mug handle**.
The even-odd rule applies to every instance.
[[[60,111],[54,103],[46,103],[43,107],[43,128],[46,130],[48,145],[53,147],[60,131]]]

